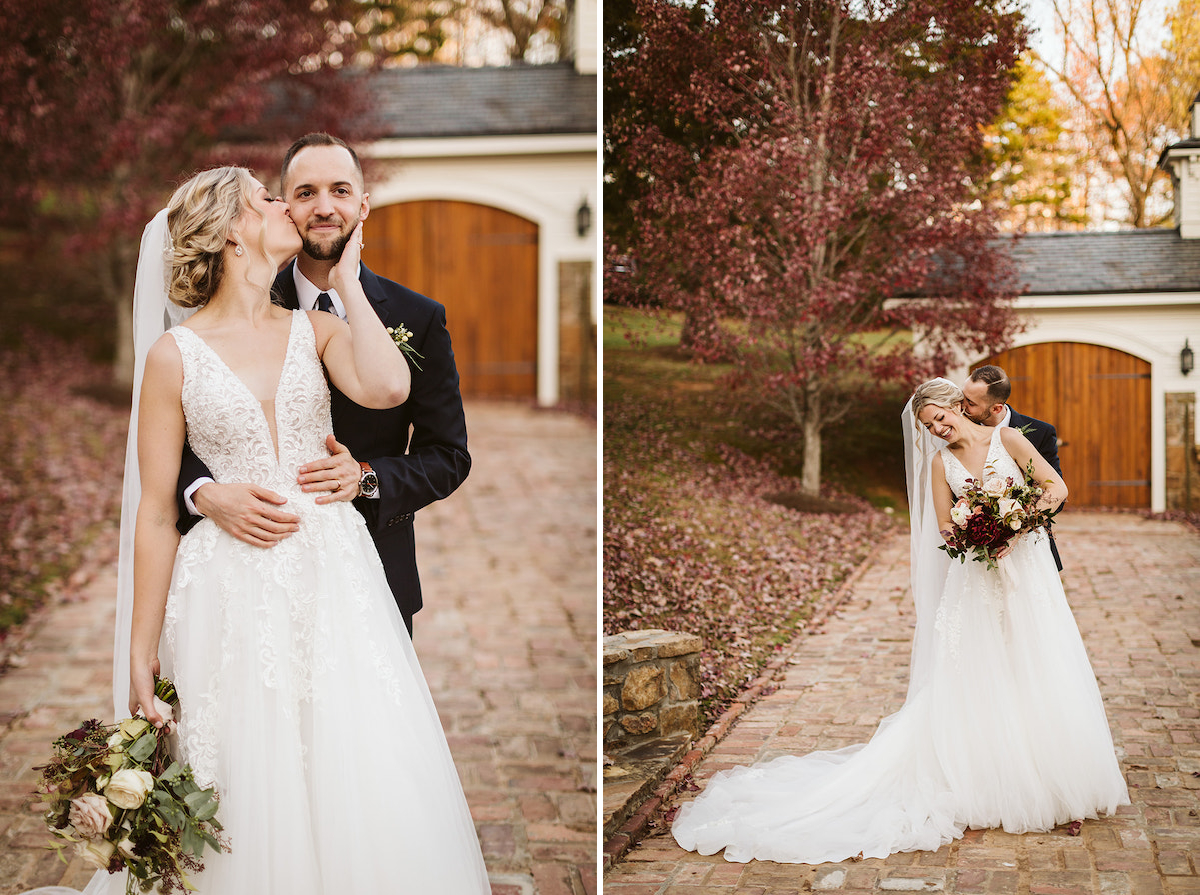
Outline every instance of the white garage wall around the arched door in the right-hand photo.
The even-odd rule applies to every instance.
[[[1085,342],[1114,348],[1150,362],[1151,378],[1151,509],[1166,506],[1168,392],[1190,391],[1200,397],[1200,370],[1184,377],[1180,352],[1184,340],[1200,356],[1200,293],[1141,295],[1026,295],[1016,301],[1026,331],[1013,348],[1043,342]],[[950,374],[955,382],[966,377],[968,358]],[[1128,425],[1145,425],[1130,420]]]

